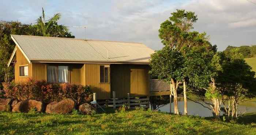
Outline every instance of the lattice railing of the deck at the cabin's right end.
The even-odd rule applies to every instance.
[[[150,92],[170,90],[170,84],[163,80],[151,79],[149,80],[149,82],[150,82]]]

